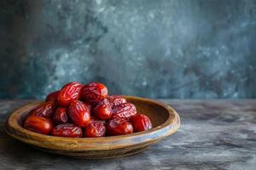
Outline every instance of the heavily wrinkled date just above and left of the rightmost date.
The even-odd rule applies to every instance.
[[[131,103],[124,103],[113,107],[112,118],[125,118],[128,119],[130,116],[137,114],[135,105]]]

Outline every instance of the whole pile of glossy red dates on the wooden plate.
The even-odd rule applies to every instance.
[[[141,132],[152,124],[122,96],[108,95],[102,83],[69,82],[30,111],[24,127],[52,136],[96,138]]]

